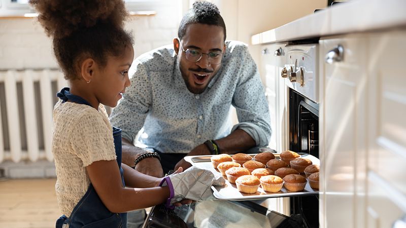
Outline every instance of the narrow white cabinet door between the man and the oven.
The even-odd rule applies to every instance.
[[[261,74],[265,75],[265,93],[269,105],[272,136],[269,147],[281,153],[286,148],[286,86],[281,78],[285,44],[262,47]],[[279,53],[279,54],[278,54]]]

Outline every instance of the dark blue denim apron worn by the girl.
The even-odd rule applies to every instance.
[[[71,100],[79,104],[90,103],[85,99],[70,94],[69,88],[63,88],[57,97],[65,102]],[[121,168],[121,129],[113,127],[114,148],[116,150],[117,163],[120,168],[121,181],[124,185],[123,169]],[[71,216],[68,218],[62,215],[56,220],[56,228],[62,228],[63,224],[69,224],[70,228],[76,227],[127,227],[127,213],[113,213],[101,202],[93,185],[90,183],[87,192],[73,209]]]

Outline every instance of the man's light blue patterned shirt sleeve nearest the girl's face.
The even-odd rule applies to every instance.
[[[122,137],[130,142],[134,142],[143,127],[152,103],[152,90],[146,68],[136,60],[134,70],[130,79],[131,86],[127,87],[120,103],[110,115],[112,126],[120,128]]]

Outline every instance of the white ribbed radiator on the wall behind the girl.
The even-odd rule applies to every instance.
[[[53,162],[52,111],[66,86],[57,69],[0,71],[0,163]]]

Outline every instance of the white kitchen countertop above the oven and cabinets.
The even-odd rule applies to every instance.
[[[286,11],[286,13],[289,13]],[[353,0],[251,37],[251,44],[310,39],[406,26],[404,0]]]

